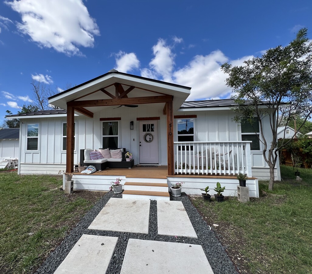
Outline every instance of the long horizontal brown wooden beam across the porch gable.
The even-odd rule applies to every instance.
[[[150,103],[166,103],[172,102],[172,95],[163,96],[146,96],[132,98],[113,98],[101,100],[85,100],[85,101],[70,101],[67,106],[70,107],[99,107],[99,106],[118,106],[118,105],[133,105],[133,104],[150,104]],[[168,111],[168,107],[167,107]]]

